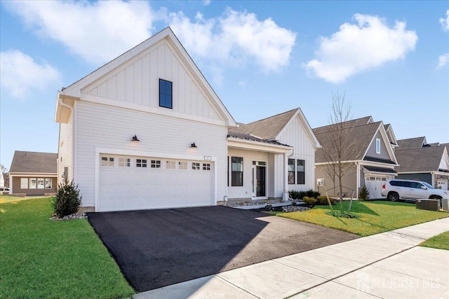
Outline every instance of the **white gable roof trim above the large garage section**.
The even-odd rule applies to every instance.
[[[134,57],[141,55],[143,52],[145,52],[145,50],[164,39],[166,39],[166,41],[170,43],[170,46],[173,47],[173,53],[180,57],[180,62],[185,64],[185,67],[189,70],[194,81],[199,85],[202,92],[204,92],[206,98],[210,101],[210,104],[215,107],[217,113],[219,113],[222,119],[225,120],[225,123],[227,123],[227,125],[230,127],[235,127],[236,122],[231,113],[229,113],[225,105],[221,102],[220,98],[217,96],[213,88],[210,86],[206,78],[196,66],[195,62],[192,60],[192,57],[190,57],[189,53],[187,53],[184,46],[182,46],[179,39],[177,39],[177,36],[175,36],[170,27],[166,27],[160,32],[149,37],[149,39],[138,44],[138,46],[131,48],[130,50],[126,51],[126,53],[123,53],[119,57],[116,57],[114,60],[107,62],[107,64],[96,69],[91,74],[84,76],[79,81],[76,81],[75,83],[69,85],[67,88],[62,88],[62,90],[58,91],[55,120],[59,122],[58,120],[60,118],[61,111],[67,109],[64,104],[61,104],[59,102],[59,99],[63,99],[65,97],[67,99],[79,99],[81,97],[81,90],[83,88],[86,88],[86,86],[91,85],[96,81],[104,78],[108,74],[112,73],[112,71],[115,71],[130,60],[133,60]]]

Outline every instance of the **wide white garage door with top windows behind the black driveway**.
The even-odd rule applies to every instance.
[[[213,162],[100,156],[98,211],[209,206]]]

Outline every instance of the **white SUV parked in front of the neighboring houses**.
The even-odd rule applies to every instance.
[[[449,191],[434,188],[425,181],[408,181],[402,179],[391,179],[384,183],[382,196],[388,200],[396,202],[397,200],[417,200],[449,198]]]

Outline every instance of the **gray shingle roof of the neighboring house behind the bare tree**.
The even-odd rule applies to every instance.
[[[374,135],[379,128],[380,121],[376,123],[363,123],[361,120],[368,120],[370,116],[366,118],[358,118],[358,120],[349,120],[349,125],[354,124],[355,127],[348,126],[347,129],[344,130],[344,134],[349,134],[349,136],[344,137],[349,140],[354,146],[354,150],[351,151],[354,155],[351,157],[347,157],[344,160],[362,160],[363,155],[365,154],[368,146],[370,146],[371,141],[373,140]],[[358,124],[358,125],[357,125]],[[318,127],[313,129],[316,138],[323,148],[328,148],[332,146],[331,134],[336,129],[336,125],[329,125],[327,127]],[[315,162],[330,162],[327,161],[325,155],[323,154],[323,148],[317,148],[315,154]]]

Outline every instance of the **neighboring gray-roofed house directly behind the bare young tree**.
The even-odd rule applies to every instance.
[[[354,190],[354,197],[358,197],[359,188],[366,186],[370,192],[370,198],[380,198],[380,191],[384,181],[396,176],[395,166],[398,166],[394,154],[396,139],[391,126],[386,127],[382,121],[374,122],[371,116],[349,120],[344,127],[343,134],[347,134],[354,148],[351,152],[353,156],[343,161],[351,166],[350,172],[342,179],[343,193],[345,197],[350,197]],[[330,136],[336,129],[336,125],[317,127],[313,131],[321,146],[325,148],[330,145]],[[325,167],[330,167],[335,161],[326,160],[323,149],[316,151],[315,176],[318,185],[325,186],[329,195],[338,196],[339,182],[335,183],[326,174]],[[320,191],[323,191],[320,189]]]

